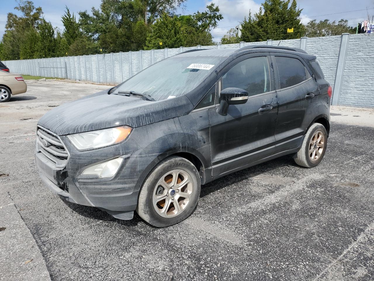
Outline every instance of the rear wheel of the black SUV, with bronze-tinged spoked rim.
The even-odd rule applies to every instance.
[[[327,131],[325,127],[320,123],[313,123],[306,133],[303,144],[294,160],[299,166],[307,168],[316,167],[321,163],[326,152],[326,147]]]

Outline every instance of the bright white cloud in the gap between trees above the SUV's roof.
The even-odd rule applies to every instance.
[[[221,40],[230,28],[243,21],[244,17],[248,18],[249,10],[251,10],[253,15],[258,12],[261,6],[253,0],[214,0],[206,1],[206,4],[209,5],[212,2],[220,7],[220,13],[223,15],[223,20],[219,22],[218,27],[212,30],[214,41],[217,42]]]

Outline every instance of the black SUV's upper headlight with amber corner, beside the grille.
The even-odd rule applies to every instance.
[[[120,143],[130,135],[131,130],[132,128],[129,126],[121,126],[77,133],[69,135],[67,138],[76,149],[83,151]]]

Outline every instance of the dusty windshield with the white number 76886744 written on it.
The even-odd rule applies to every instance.
[[[172,57],[144,69],[113,93],[134,91],[154,100],[182,96],[196,88],[226,57]]]

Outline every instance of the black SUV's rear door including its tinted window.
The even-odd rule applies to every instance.
[[[276,70],[278,120],[276,152],[297,148],[317,114],[319,87],[305,61],[292,54],[272,53]]]

